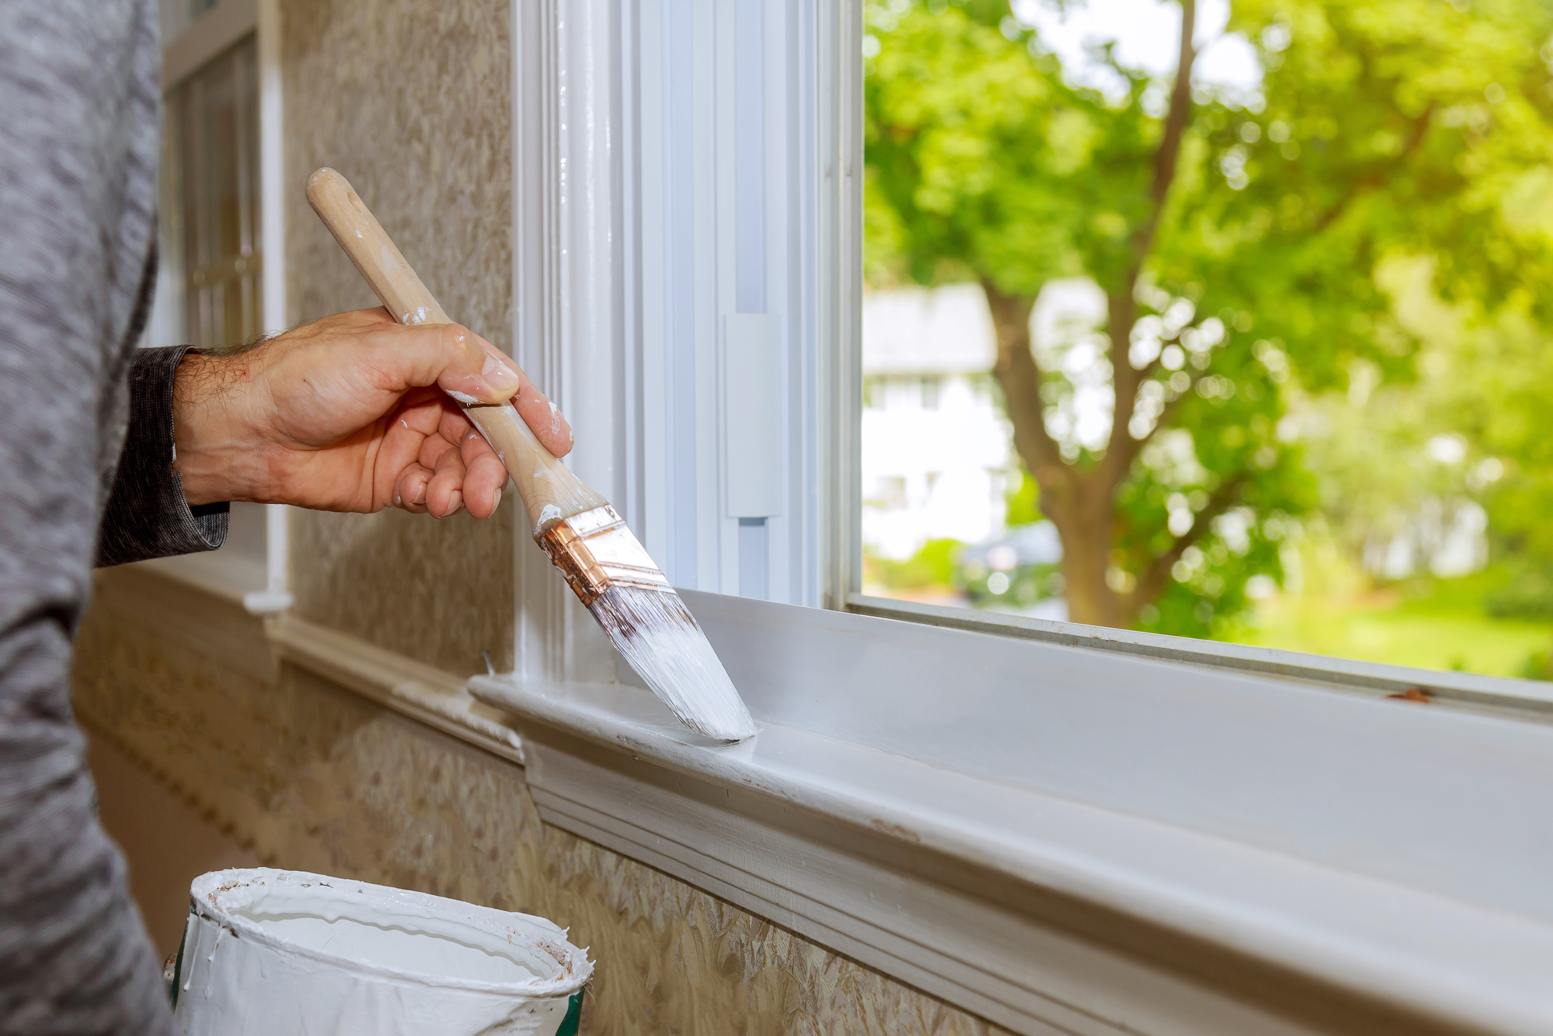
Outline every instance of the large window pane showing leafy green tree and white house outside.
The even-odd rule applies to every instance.
[[[865,593],[1553,676],[1553,8],[865,22]]]

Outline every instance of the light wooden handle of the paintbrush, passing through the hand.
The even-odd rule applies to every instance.
[[[314,172],[307,177],[307,200],[394,320],[452,323],[343,176],[329,168]],[[467,405],[464,413],[506,464],[534,536],[559,519],[607,503],[534,438],[511,402]]]

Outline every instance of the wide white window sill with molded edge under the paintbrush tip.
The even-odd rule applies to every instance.
[[[763,732],[475,677],[544,819],[1022,1033],[1553,1031],[1553,730],[685,593]]]

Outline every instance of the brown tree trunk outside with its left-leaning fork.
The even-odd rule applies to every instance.
[[[1041,513],[1051,519],[1062,539],[1068,620],[1120,626],[1121,606],[1106,582],[1115,506],[1098,472],[1081,472],[1067,464],[1047,433],[1041,368],[1030,351],[1030,311],[1036,300],[1033,295],[1006,295],[989,280],[981,287],[997,331],[992,376],[1003,388],[1003,407],[1014,424],[1014,449],[1041,488]]]

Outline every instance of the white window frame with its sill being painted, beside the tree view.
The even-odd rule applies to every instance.
[[[572,468],[700,586],[683,596],[761,727],[733,747],[680,728],[519,530],[516,671],[469,691],[516,716],[547,823],[1019,1033],[1553,1031],[1541,685],[859,596],[859,0],[512,12],[516,356],[565,407]],[[753,43],[784,68],[766,113],[801,152],[781,172],[801,225],[780,475],[812,520],[767,523],[767,558],[786,537],[808,575],[741,596],[752,527],[725,486],[676,511],[655,483],[674,480],[668,349],[700,360],[680,371],[705,390],[697,478],[730,435]],[[665,169],[691,177],[690,210]],[[699,304],[676,326],[686,269]],[[685,513],[694,564],[665,525]],[[1388,699],[1412,687],[1433,704]]]

